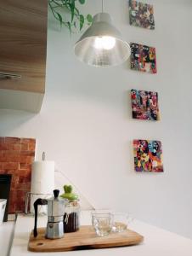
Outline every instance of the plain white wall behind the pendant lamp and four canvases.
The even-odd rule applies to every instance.
[[[91,14],[99,12],[100,1],[87,2]],[[156,47],[158,73],[131,71],[128,62],[88,67],[73,54],[79,36],[49,20],[42,111],[1,110],[0,136],[37,137],[37,156],[45,150],[95,207],[192,238],[192,2],[149,0],[155,31],[129,26],[126,0],[104,2],[128,42]],[[161,121],[131,118],[132,88],[159,92]],[[133,171],[133,138],[161,140],[164,173]]]

